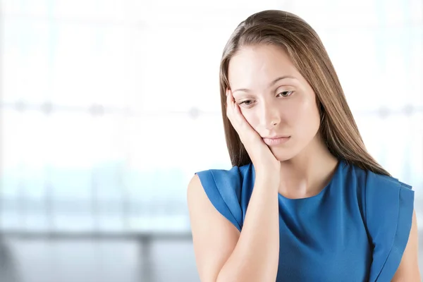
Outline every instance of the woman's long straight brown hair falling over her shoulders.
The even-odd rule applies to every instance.
[[[302,18],[276,10],[249,16],[236,27],[223,49],[220,66],[221,111],[233,166],[250,164],[251,159],[226,117],[226,89],[230,88],[228,65],[240,47],[257,44],[274,44],[285,49],[295,68],[311,85],[321,116],[319,136],[333,156],[374,173],[390,176],[364,147],[338,75],[317,33]]]

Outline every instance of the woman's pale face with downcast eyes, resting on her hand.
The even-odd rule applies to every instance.
[[[279,161],[295,157],[317,136],[320,117],[314,91],[281,47],[243,47],[229,63],[228,78],[252,128],[262,137],[287,137],[268,144]]]

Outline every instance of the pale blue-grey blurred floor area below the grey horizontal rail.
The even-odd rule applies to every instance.
[[[423,254],[422,235],[420,254]],[[160,241],[150,247],[152,261],[149,269],[143,269],[146,266],[143,250],[131,241],[6,240],[0,250],[0,281],[199,281],[190,240]],[[420,269],[422,262],[420,256]]]

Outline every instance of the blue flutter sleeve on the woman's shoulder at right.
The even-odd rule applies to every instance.
[[[364,195],[365,223],[373,245],[369,281],[391,281],[410,235],[414,191],[398,178],[367,171]]]

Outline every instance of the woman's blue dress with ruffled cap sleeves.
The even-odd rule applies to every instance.
[[[197,172],[214,207],[243,228],[255,170]],[[278,194],[280,249],[276,281],[391,281],[407,245],[414,191],[396,178],[344,160],[318,195]]]

